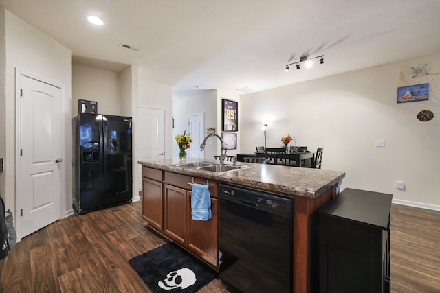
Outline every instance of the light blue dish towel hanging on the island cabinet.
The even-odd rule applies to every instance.
[[[211,196],[208,185],[192,184],[192,220],[208,221],[211,218]]]

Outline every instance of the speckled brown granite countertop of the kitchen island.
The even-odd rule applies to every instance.
[[[219,161],[203,161],[219,163]],[[190,162],[190,160],[187,161],[187,163]],[[243,162],[238,162],[237,165],[251,167],[223,173],[171,166],[171,164],[179,163],[179,161],[173,161],[172,159],[142,159],[137,163],[145,167],[153,167],[198,178],[217,180],[223,183],[234,183],[306,198],[317,198],[333,185],[340,183],[342,178],[345,177],[345,172],[342,171]]]

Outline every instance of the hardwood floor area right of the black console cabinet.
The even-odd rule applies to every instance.
[[[391,292],[440,292],[440,211],[391,205]]]

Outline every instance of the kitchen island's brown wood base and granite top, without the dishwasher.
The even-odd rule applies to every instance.
[[[315,211],[339,194],[344,172],[239,163],[249,167],[219,173],[175,166],[172,164],[179,162],[171,159],[140,160],[138,163],[142,164],[142,218],[148,222],[148,226],[187,248],[216,270],[219,269],[219,183],[294,198],[293,292],[311,292],[312,281],[316,281],[313,277],[318,270],[314,268],[317,261],[314,259],[317,256],[314,247],[318,241]],[[190,220],[191,183],[209,185],[212,219],[208,222]]]

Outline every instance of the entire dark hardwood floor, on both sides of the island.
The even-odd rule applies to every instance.
[[[151,292],[128,260],[164,244],[140,202],[73,215],[28,237],[0,261],[0,292]],[[440,292],[440,212],[393,204],[393,293]],[[229,292],[214,279],[201,293]]]

